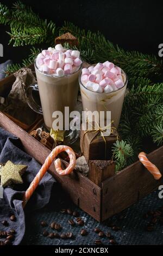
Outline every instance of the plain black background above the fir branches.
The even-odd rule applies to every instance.
[[[15,1],[1,1],[10,6]],[[126,50],[137,50],[158,55],[158,45],[163,42],[163,1],[127,0],[78,0],[34,1],[22,0],[30,5],[43,19],[53,20],[57,26],[71,21],[81,28],[102,32],[110,41]],[[8,46],[9,27],[0,25],[0,43],[4,47],[4,60],[14,62],[26,57],[29,47]]]

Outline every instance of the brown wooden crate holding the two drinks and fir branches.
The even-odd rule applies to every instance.
[[[14,79],[14,76],[11,75],[0,81],[0,95],[7,95]],[[18,126],[20,124],[10,118],[0,112],[0,126],[19,137],[24,151],[43,164],[51,151],[37,142],[22,127]],[[148,158],[163,174],[163,147],[154,150],[148,155]],[[93,184],[92,181],[76,171],[68,176],[60,176],[55,172],[54,164],[49,168],[49,173],[61,184],[79,208],[99,222],[126,209],[163,183],[163,178],[158,181],[154,180],[139,161],[104,180],[101,187]]]

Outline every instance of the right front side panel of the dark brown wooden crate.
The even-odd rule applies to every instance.
[[[163,175],[163,147],[150,153],[148,159]],[[102,182],[102,221],[134,204],[162,183],[163,178],[155,180],[139,161],[105,180]]]

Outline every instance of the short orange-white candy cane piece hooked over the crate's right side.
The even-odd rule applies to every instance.
[[[141,152],[139,153],[138,157],[143,166],[145,166],[147,170],[149,170],[149,172],[154,176],[154,179],[159,180],[162,175],[159,169],[147,159],[146,153]]]

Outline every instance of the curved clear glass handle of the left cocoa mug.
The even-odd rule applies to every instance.
[[[37,84],[32,84],[26,90],[28,106],[32,108],[33,111],[35,111],[36,113],[43,114],[42,107],[39,104],[37,104],[33,98],[33,90],[39,92],[39,87]]]

